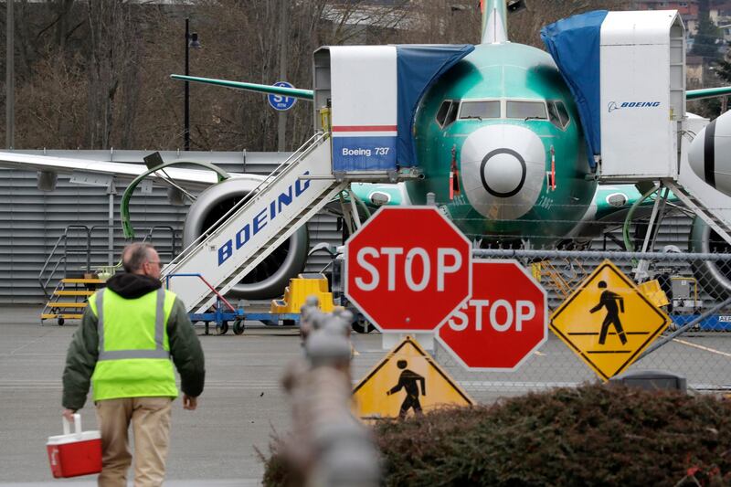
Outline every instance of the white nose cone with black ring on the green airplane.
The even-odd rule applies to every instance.
[[[482,127],[467,137],[460,157],[465,196],[484,217],[524,216],[545,184],[546,150],[524,127]]]

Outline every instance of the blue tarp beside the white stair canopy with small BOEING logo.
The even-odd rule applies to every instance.
[[[592,169],[593,155],[601,153],[599,44],[601,24],[607,14],[606,10],[595,10],[541,29],[541,39],[577,102]]]

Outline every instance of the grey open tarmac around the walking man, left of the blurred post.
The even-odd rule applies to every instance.
[[[45,442],[61,433],[61,372],[74,322],[39,326],[39,309],[0,308],[0,483],[52,480]],[[199,329],[198,333],[203,333]],[[295,329],[201,336],[207,381],[196,411],[174,403],[166,485],[256,485],[272,431],[290,428],[279,386],[282,367],[300,353]],[[84,429],[96,429],[90,401]],[[95,485],[89,482],[76,485]],[[212,482],[212,481],[218,482]],[[69,482],[69,481],[53,481]],[[31,483],[22,485],[43,485]]]

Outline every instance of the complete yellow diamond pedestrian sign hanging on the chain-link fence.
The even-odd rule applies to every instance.
[[[668,323],[668,315],[605,260],[553,313],[550,327],[609,380],[629,367]]]

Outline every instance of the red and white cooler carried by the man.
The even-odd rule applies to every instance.
[[[74,432],[63,418],[63,434],[48,437],[46,443],[51,472],[57,479],[89,475],[101,471],[101,434],[81,431],[81,415],[74,415]]]

